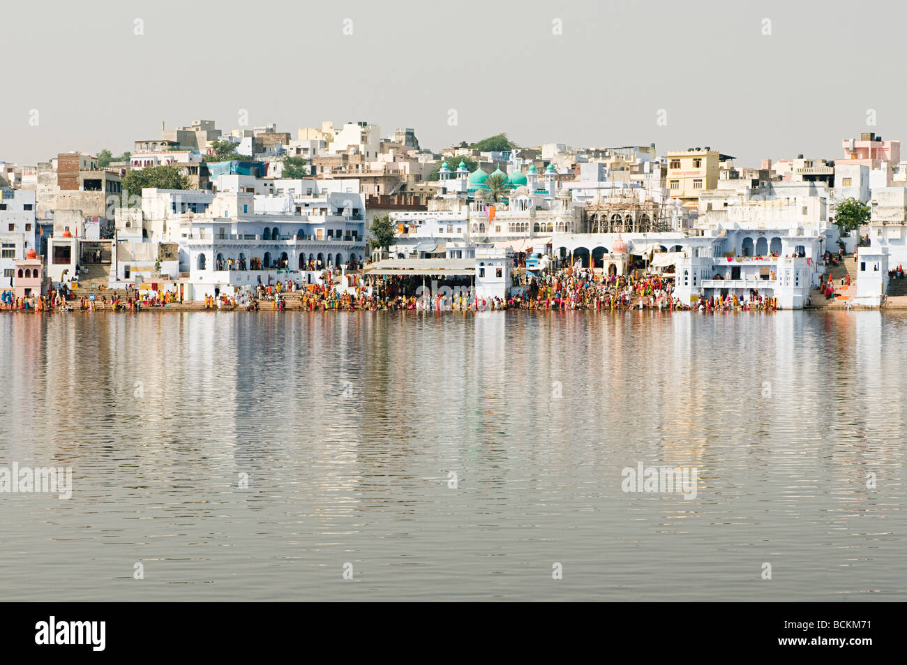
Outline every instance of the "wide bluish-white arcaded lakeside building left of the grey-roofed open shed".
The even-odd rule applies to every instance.
[[[364,260],[365,202],[358,192],[312,181],[313,193],[299,194],[309,190],[306,181],[274,181],[284,185],[281,194],[258,194],[261,183],[227,178],[224,186],[234,191],[142,191],[141,220],[135,212],[117,218],[118,234],[132,244],[122,247],[115,279],[129,281],[146,270],[167,243],[179,248],[176,269],[161,260],[161,275],[188,282],[184,297],[190,299],[288,279],[316,283],[323,269]],[[140,221],[147,247],[136,243]]]

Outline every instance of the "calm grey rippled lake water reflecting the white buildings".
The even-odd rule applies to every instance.
[[[0,315],[0,466],[73,470],[0,494],[0,594],[907,600],[905,347],[878,311]]]

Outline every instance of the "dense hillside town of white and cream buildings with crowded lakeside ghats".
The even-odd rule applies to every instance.
[[[907,161],[710,146],[434,152],[369,122],[0,162],[6,311],[897,307]]]

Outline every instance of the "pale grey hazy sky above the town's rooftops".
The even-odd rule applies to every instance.
[[[740,166],[834,158],[860,132],[907,137],[905,18],[872,0],[12,0],[0,161],[132,151],[161,121],[229,132],[242,109],[294,138],[322,120],[413,127],[434,150],[507,132],[658,154],[709,145]]]

